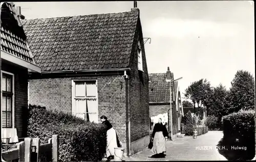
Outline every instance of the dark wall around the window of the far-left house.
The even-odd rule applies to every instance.
[[[27,137],[24,110],[28,108],[28,69],[4,62],[1,69],[14,74],[14,127],[18,138]]]

